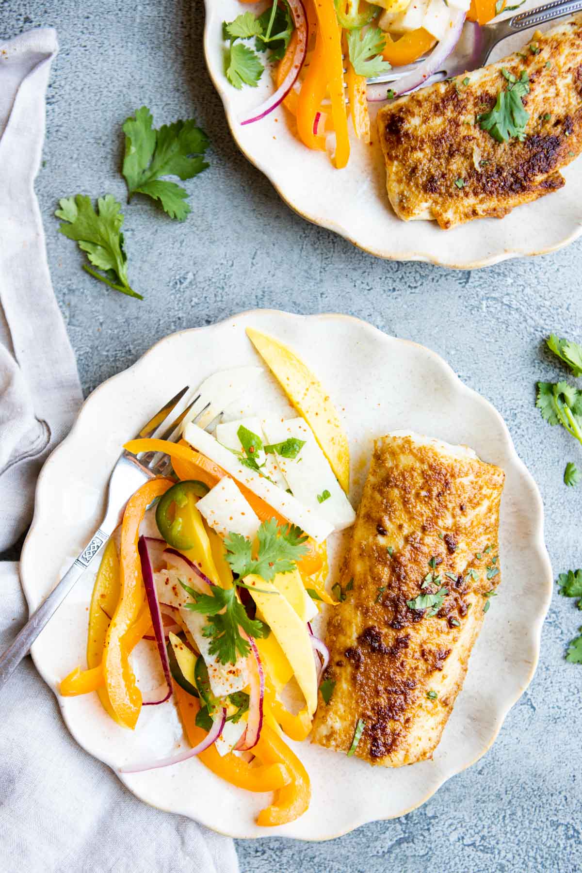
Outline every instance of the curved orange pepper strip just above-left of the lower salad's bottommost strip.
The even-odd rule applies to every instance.
[[[196,726],[196,712],[200,709],[200,704],[176,683],[174,683],[174,693],[188,742],[190,746],[197,746],[206,736],[202,727]],[[230,785],[245,788],[247,791],[277,791],[291,782],[291,773],[287,766],[278,760],[266,766],[250,766],[232,752],[219,755],[216,746],[209,746],[197,757],[204,766]]]

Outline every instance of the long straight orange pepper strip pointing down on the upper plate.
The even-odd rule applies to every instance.
[[[333,0],[315,0],[315,11],[318,16],[318,33],[321,33],[323,43],[325,78],[332,100],[333,129],[336,135],[334,162],[336,168],[341,169],[346,166],[350,157],[341,28],[335,14]]]

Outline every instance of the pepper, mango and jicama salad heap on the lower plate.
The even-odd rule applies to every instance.
[[[126,444],[164,452],[173,475],[127,502],[92,592],[87,669],[72,670],[60,693],[97,692],[129,729],[144,706],[177,707],[189,748],[169,758],[152,749],[120,772],[197,757],[233,786],[274,792],[257,818],[270,826],[309,806],[309,775],[285,739],[311,731],[329,659],[311,622],[337,602],[325,588],[326,540],[354,512],[347,439],[329,396],[289,348],[247,333],[298,416],[221,421],[212,433],[187,417],[177,443]],[[149,693],[132,662],[144,639],[164,677]],[[288,705],[291,686],[299,708]]]

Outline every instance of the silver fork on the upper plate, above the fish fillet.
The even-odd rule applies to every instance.
[[[555,18],[563,18],[573,15],[582,10],[582,0],[553,0],[536,9],[519,12],[510,18],[496,24],[485,24],[481,27],[473,21],[466,21],[461,38],[455,45],[455,50],[443,62],[442,69],[435,72],[424,85],[432,85],[440,79],[452,79],[461,75],[462,72],[470,72],[484,66],[497,43],[502,39],[515,36],[521,31],[528,31],[532,27],[539,27]],[[424,58],[419,58],[414,64],[394,67],[393,70],[368,79],[370,85],[384,85],[389,82],[397,82],[407,73],[414,71],[414,67],[421,63]]]

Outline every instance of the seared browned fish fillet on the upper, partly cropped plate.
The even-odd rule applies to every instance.
[[[387,192],[398,217],[435,218],[450,228],[472,218],[503,218],[514,206],[562,188],[559,168],[582,149],[582,15],[537,34],[537,53],[531,45],[380,109]],[[524,70],[529,75],[523,142],[497,142],[476,121],[508,86],[502,68],[517,79]]]

